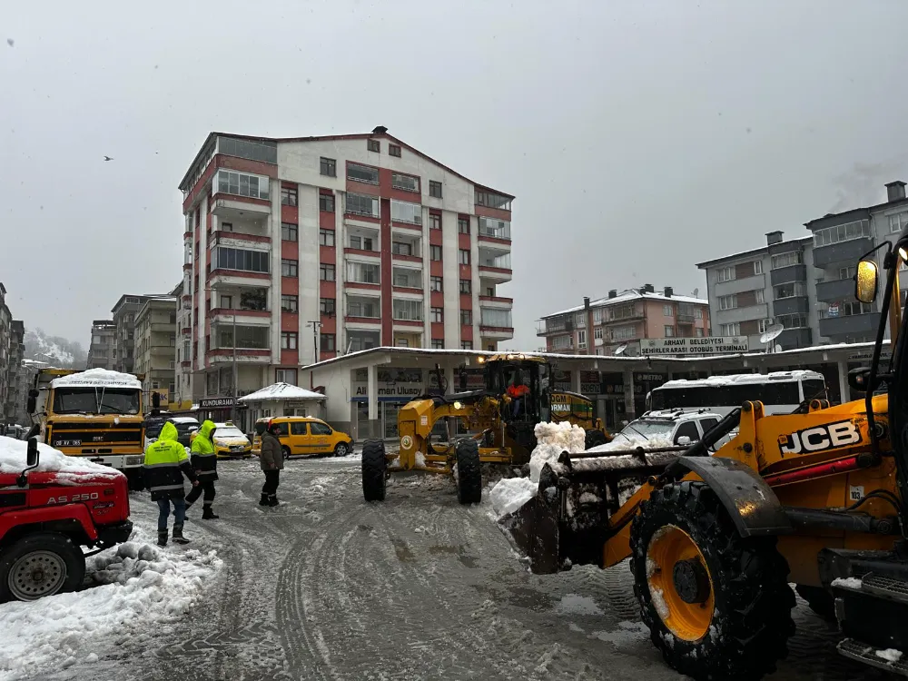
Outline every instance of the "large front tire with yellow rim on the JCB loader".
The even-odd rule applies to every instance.
[[[795,633],[795,594],[775,537],[742,538],[703,482],[657,489],[634,518],[640,616],[666,663],[695,679],[775,671]]]

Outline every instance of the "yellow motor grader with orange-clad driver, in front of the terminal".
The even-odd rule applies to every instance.
[[[400,408],[400,450],[385,451],[381,440],[362,447],[362,493],[367,501],[385,498],[390,473],[420,470],[451,475],[457,470],[462,504],[482,498],[481,464],[522,466],[536,447],[535,429],[542,421],[568,421],[587,430],[587,449],[611,438],[584,395],[549,386],[551,367],[542,357],[505,353],[479,357],[485,385],[481,390],[451,395],[424,395]],[[439,391],[447,390],[436,369]],[[472,436],[455,438],[458,420]]]

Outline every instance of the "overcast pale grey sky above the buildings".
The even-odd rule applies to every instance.
[[[0,281],[84,345],[180,281],[177,184],[212,130],[386,125],[515,194],[522,349],[584,295],[705,295],[696,262],[908,181],[900,0],[126,5],[0,13]]]

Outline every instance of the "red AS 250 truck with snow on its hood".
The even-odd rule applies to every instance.
[[[39,463],[30,438],[25,469],[0,470],[0,602],[72,591],[86,557],[133,531],[122,473],[45,472],[35,470]]]

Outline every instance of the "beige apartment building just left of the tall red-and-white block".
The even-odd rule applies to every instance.
[[[135,316],[134,367],[143,376],[146,404],[151,404],[153,391],[163,403],[175,400],[176,302],[176,298],[149,298]]]

